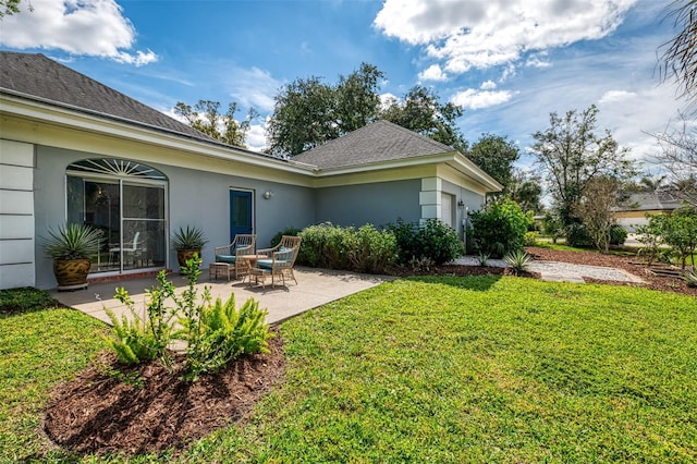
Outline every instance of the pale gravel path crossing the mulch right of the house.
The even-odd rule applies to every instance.
[[[455,265],[479,266],[479,261],[474,256],[463,256],[455,259]],[[487,266],[505,268],[508,265],[503,259],[489,259]],[[640,278],[625,271],[624,269],[609,268],[602,266],[574,265],[559,261],[531,261],[529,270],[539,272],[542,280],[554,282],[576,282],[585,283],[584,277],[598,280],[611,280],[616,282],[645,283]]]

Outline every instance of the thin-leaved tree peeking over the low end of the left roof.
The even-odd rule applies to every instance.
[[[174,113],[184,118],[192,127],[224,144],[246,148],[245,137],[257,113],[250,108],[247,119],[237,122],[234,118],[235,112],[237,103],[234,101],[228,105],[225,113],[220,112],[220,102],[212,100],[198,100],[193,108],[178,101],[174,107]]]

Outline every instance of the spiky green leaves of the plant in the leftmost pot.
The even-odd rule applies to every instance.
[[[101,231],[91,225],[72,223],[48,230],[41,237],[46,255],[53,259],[85,259],[99,253]]]

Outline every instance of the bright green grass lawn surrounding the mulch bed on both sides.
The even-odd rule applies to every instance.
[[[85,365],[101,331],[66,310],[0,318],[0,460],[40,449],[47,390]],[[180,461],[697,460],[690,296],[509,277],[406,279],[291,319],[281,333],[285,381],[244,425],[192,443]]]

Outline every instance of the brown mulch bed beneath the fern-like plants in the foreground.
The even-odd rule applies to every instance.
[[[56,388],[44,428],[57,444],[84,453],[180,452],[192,440],[240,423],[284,375],[280,337],[270,354],[245,355],[218,374],[182,380],[182,357],[134,368],[103,353],[75,380]]]

